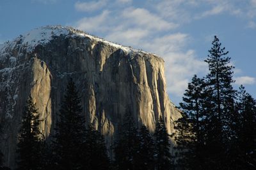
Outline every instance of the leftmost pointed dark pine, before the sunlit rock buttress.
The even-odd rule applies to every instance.
[[[40,119],[38,111],[29,97],[24,107],[22,125],[17,144],[17,169],[42,169],[42,143],[44,135],[39,130]]]

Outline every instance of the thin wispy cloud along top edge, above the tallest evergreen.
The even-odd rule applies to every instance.
[[[241,16],[246,12],[246,9],[241,9],[240,3],[240,0],[163,0],[156,4],[152,3],[152,6],[156,6],[157,12],[164,19],[175,20],[179,24],[187,24],[195,19],[223,13]]]

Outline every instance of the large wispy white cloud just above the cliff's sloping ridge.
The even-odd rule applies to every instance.
[[[154,36],[154,33],[159,31],[174,29],[177,24],[168,22],[143,8],[125,8],[119,13],[106,10],[94,17],[84,17],[76,22],[76,27],[96,35],[108,31],[108,34],[104,35],[107,40],[122,42],[125,45],[134,45],[134,42],[137,42],[135,45],[138,45],[141,38]]]

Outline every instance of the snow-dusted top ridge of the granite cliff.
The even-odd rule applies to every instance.
[[[18,38],[15,38],[13,42],[6,42],[3,45],[0,45],[0,54],[3,54],[6,50],[12,50],[15,45],[19,42],[22,47],[26,47],[27,52],[32,52],[37,45],[45,45],[49,43],[54,36],[82,36],[90,38],[91,40],[95,40],[97,42],[102,42],[106,45],[110,45],[115,47],[116,49],[122,49],[124,52],[128,53],[143,53],[143,54],[152,54],[150,52],[145,52],[142,50],[135,50],[131,47],[125,47],[123,45],[119,45],[113,42],[108,42],[102,38],[98,38],[96,36],[89,35],[84,31],[80,31],[78,29],[74,29],[73,27],[63,27],[63,26],[43,26],[38,27],[36,29],[32,29],[28,33],[24,35],[20,35]],[[154,56],[157,56],[154,54]],[[157,56],[158,57],[158,56]]]

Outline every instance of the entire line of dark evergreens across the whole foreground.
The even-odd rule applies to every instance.
[[[256,169],[256,101],[243,86],[233,88],[234,66],[227,54],[214,36],[205,59],[209,73],[192,78],[180,103],[173,150],[161,116],[152,134],[144,125],[136,127],[127,112],[110,159],[104,136],[92,125],[86,127],[81,99],[70,80],[51,141],[40,132],[42,120],[28,98],[17,169]]]

